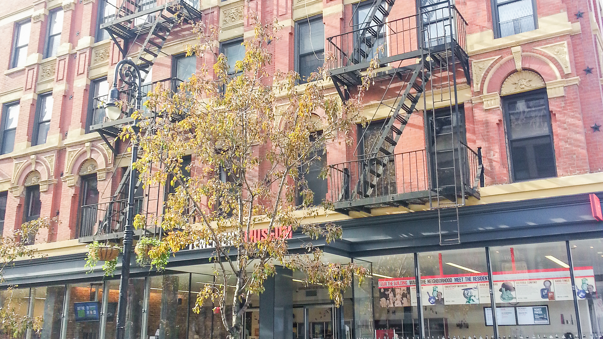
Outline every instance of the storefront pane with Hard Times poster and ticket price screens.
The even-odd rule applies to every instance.
[[[576,337],[565,242],[491,247],[490,258],[499,334]]]

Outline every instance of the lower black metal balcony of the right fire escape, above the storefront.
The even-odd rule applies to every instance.
[[[461,169],[461,174],[455,178],[453,174],[447,177],[440,173],[440,180],[447,178],[446,182],[452,183],[452,191],[461,191],[454,186],[463,185],[464,194],[479,198],[484,175],[481,148],[473,151],[461,145],[461,149],[464,153],[455,157],[455,166]],[[428,156],[426,150],[418,150],[329,165],[330,201],[339,213],[370,214],[373,208],[426,204],[437,194],[446,197],[451,187],[443,182],[437,188],[433,179],[434,162],[434,153]],[[438,168],[438,171],[445,170]]]

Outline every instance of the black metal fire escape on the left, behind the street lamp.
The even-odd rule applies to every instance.
[[[118,46],[122,57],[125,58],[130,52],[136,51],[136,46],[138,46],[139,49],[133,61],[139,65],[143,83],[147,75],[150,74],[157,57],[162,54],[163,45],[168,40],[172,29],[177,27],[177,25],[189,24],[201,19],[201,12],[193,7],[188,0],[174,0],[162,4],[158,4],[157,2],[162,2],[162,0],[124,0],[121,6],[116,8],[116,19],[101,25],[102,29],[109,32],[111,39]],[[168,79],[167,84],[163,84],[166,80],[159,82],[162,83],[162,86],[168,86],[169,89],[173,89],[174,87],[172,79]],[[150,89],[150,86],[143,86],[142,90],[148,91]],[[91,131],[98,131],[101,138],[113,151],[115,157],[118,157],[119,152],[114,148],[115,145],[110,143],[110,139],[116,138],[121,133],[123,126],[133,124],[134,119],[130,118],[130,114],[133,112],[131,107],[134,107],[136,97],[132,93],[132,89],[127,85],[121,87],[120,93],[121,97],[129,102],[129,108],[127,108],[125,116],[115,121],[104,121],[90,127]],[[147,114],[154,115],[154,112]],[[142,131],[142,133],[151,133],[151,128]],[[80,242],[103,241],[122,236],[130,173],[130,168],[127,168],[121,182],[116,188],[115,194],[112,195],[108,203],[98,204],[98,206],[93,207],[94,211],[87,213],[89,215],[98,215],[98,217],[92,220],[95,225],[89,227],[90,234],[80,234]],[[143,189],[140,180],[138,180],[136,186],[136,211],[145,212],[152,209],[150,205],[153,201],[156,202],[157,206],[155,208],[159,211],[159,186]],[[151,191],[156,194],[150,194]],[[143,204],[146,204],[146,207]],[[146,229],[138,233],[141,232],[157,232],[157,230]]]

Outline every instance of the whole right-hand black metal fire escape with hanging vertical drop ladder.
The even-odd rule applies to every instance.
[[[365,24],[327,39],[335,55],[330,76],[344,101],[347,93],[361,84],[371,59],[378,60],[380,68],[371,79],[371,88],[376,89],[370,91],[383,91],[377,112],[385,115],[371,142],[356,154],[358,160],[330,165],[332,201],[335,210],[344,214],[370,214],[373,208],[408,208],[411,204],[429,204],[438,211],[456,208],[456,213],[444,211],[440,224],[453,221],[458,231],[458,206],[463,206],[469,195],[479,198],[483,174],[481,153],[463,142],[456,92],[458,75],[467,83],[470,79],[469,57],[464,51],[467,23],[448,1],[387,21],[392,6],[393,0],[377,1]],[[382,46],[377,46],[379,43]],[[428,146],[404,152],[402,133],[421,96],[427,107],[421,110]],[[448,112],[438,110],[435,115],[433,107],[441,106],[442,101],[449,103]],[[431,125],[429,121],[433,121]],[[450,127],[440,128],[443,122],[450,122]],[[443,146],[436,144],[446,144],[446,138],[453,147],[444,154],[440,151]],[[440,233],[444,234],[443,244],[459,241],[458,232],[441,227]]]

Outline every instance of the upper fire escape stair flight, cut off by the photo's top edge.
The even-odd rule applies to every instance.
[[[353,63],[373,59],[374,55],[371,55],[373,46],[379,41],[379,35],[382,33],[381,31],[385,26],[387,17],[390,15],[394,2],[396,0],[375,0],[366,20],[359,27],[361,28],[358,33],[359,40],[364,44],[366,50],[362,46],[358,46],[355,51],[356,55],[353,57]]]

